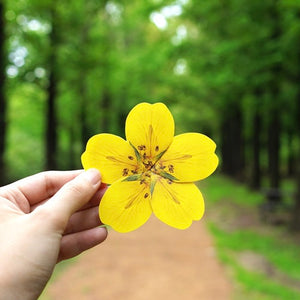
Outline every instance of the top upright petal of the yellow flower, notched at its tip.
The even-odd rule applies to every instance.
[[[165,151],[174,136],[174,119],[163,103],[140,103],[126,119],[126,139],[140,152],[154,158]]]

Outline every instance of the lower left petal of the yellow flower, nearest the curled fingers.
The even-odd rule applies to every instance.
[[[140,181],[117,181],[105,192],[99,206],[101,221],[119,232],[142,226],[152,214],[150,190]]]

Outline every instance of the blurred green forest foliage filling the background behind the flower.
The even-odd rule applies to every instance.
[[[297,1],[281,0],[6,0],[9,110],[16,97],[27,103],[21,101],[27,96],[24,84],[43,103],[22,108],[39,118],[35,125],[34,118],[19,122],[19,117],[9,117],[10,136],[30,135],[29,140],[36,139],[34,143],[43,149],[36,164],[28,163],[31,153],[19,155],[22,162],[16,168],[12,156],[19,150],[13,149],[10,137],[9,174],[18,177],[45,166],[44,126],[52,71],[57,84],[60,169],[80,167],[90,136],[107,131],[124,136],[126,115],[135,104],[163,101],[174,114],[177,133],[211,136],[220,156],[224,140],[229,140],[224,135],[230,131],[226,121],[240,113],[232,127],[239,129],[241,138],[231,132],[227,143],[230,156],[237,159],[238,148],[245,156],[247,163],[240,166],[243,178],[252,172],[256,114],[262,118],[261,169],[268,170],[267,127],[276,108],[283,142],[280,170],[286,171],[299,145],[299,9]],[[32,135],[32,127],[40,134]],[[294,140],[293,149],[289,139]]]

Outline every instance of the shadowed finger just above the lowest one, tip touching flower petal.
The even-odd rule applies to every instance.
[[[69,220],[64,235],[84,231],[101,225],[98,206],[76,212]]]

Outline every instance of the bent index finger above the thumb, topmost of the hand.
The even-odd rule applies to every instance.
[[[63,185],[74,179],[83,170],[48,171],[21,179],[10,186],[18,189],[30,205],[52,197]]]

